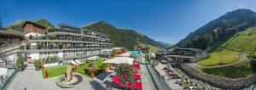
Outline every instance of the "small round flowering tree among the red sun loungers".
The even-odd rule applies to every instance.
[[[120,64],[116,68],[116,75],[119,77],[119,82],[125,83],[127,89],[127,82],[133,83],[133,67],[128,64]]]

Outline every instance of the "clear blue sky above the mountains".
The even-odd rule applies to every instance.
[[[0,0],[3,26],[46,19],[54,25],[106,20],[156,41],[178,42],[191,31],[237,8],[256,11],[256,0]]]

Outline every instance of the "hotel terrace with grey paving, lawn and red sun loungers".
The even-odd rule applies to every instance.
[[[133,79],[136,80],[133,84],[130,84],[130,82],[128,82],[127,86],[124,86],[124,83],[122,84],[120,81],[117,81],[117,79],[121,79],[121,77],[119,77],[119,75],[117,74],[117,70],[115,70],[114,68],[118,68],[119,64],[112,64],[112,67],[109,68],[110,70],[106,70],[108,69],[106,67],[108,67],[109,65],[108,63],[104,64],[104,62],[107,60],[96,59],[95,61],[89,62],[88,60],[85,60],[84,62],[81,62],[82,64],[79,65],[75,72],[76,74],[79,74],[83,77],[83,81],[73,87],[73,89],[106,89],[108,87],[114,89],[122,89],[125,87],[133,87],[145,90],[155,89],[155,82],[153,82],[152,76],[150,76],[150,74],[153,74],[153,72],[150,72],[149,74],[148,66],[142,65],[142,63],[145,63],[143,53],[130,53],[136,53],[137,55],[139,55],[135,60],[135,62],[137,63],[134,63],[134,65],[129,65],[132,69],[137,70],[136,74],[133,75]],[[93,76],[91,77],[91,72],[89,70],[91,65],[94,65],[96,67],[96,70],[94,71],[94,74],[96,76],[95,78],[93,78]],[[60,89],[60,87],[57,87],[55,85],[55,80],[58,79],[58,77],[65,75],[66,71],[67,65],[60,65],[44,68],[41,71],[25,70],[23,72],[18,72],[17,76],[15,76],[14,81],[10,82],[7,89]],[[48,74],[47,77],[45,77],[44,75],[45,72],[47,72]],[[115,84],[113,85],[113,83]],[[149,86],[148,83],[150,84]]]

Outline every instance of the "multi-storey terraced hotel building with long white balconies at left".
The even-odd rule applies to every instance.
[[[26,21],[23,25],[26,43],[20,48],[30,60],[57,57],[64,62],[72,59],[84,60],[91,56],[109,55],[113,42],[108,35],[60,24],[55,29]]]

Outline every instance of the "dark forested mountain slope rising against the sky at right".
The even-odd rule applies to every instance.
[[[212,20],[189,34],[176,47],[206,49],[218,47],[239,31],[256,25],[256,14],[252,10],[237,9],[228,12],[217,20]]]

